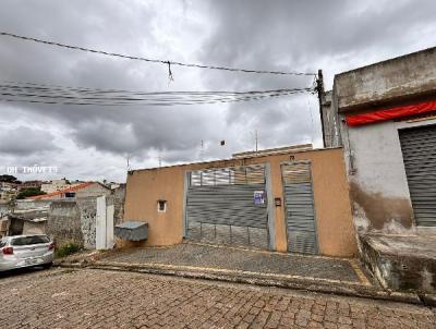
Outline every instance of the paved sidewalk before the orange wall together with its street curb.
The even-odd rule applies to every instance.
[[[60,265],[422,303],[415,294],[383,290],[355,259],[243,247],[183,243],[168,247],[113,249],[93,253],[90,257],[65,259]]]

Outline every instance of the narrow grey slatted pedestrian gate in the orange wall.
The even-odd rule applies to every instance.
[[[288,228],[288,251],[317,254],[311,163],[284,163],[281,166],[281,173]]]

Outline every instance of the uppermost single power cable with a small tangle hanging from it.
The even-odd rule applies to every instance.
[[[217,66],[217,65],[182,63],[182,62],[160,60],[160,59],[149,59],[149,58],[144,58],[144,57],[129,56],[129,54],[109,52],[109,51],[105,51],[105,50],[96,50],[96,49],[84,48],[84,47],[78,47],[78,46],[71,46],[71,45],[60,44],[60,42],[56,42],[56,41],[49,41],[49,40],[43,40],[43,39],[38,39],[38,38],[33,38],[33,37],[21,36],[21,35],[8,33],[8,32],[0,32],[0,36],[7,36],[7,37],[12,37],[15,39],[21,39],[21,40],[26,40],[26,41],[34,41],[34,42],[44,44],[44,45],[50,45],[50,46],[56,46],[56,47],[61,47],[61,48],[66,48],[66,49],[72,49],[72,50],[99,53],[99,54],[123,58],[123,59],[129,59],[129,60],[137,60],[137,61],[166,64],[166,65],[168,65],[168,71],[169,71],[170,77],[172,77],[171,65],[196,68],[196,69],[221,70],[221,71],[230,71],[230,72],[257,73],[257,74],[316,76],[316,73],[311,73],[311,72],[282,72],[282,71],[267,71],[267,70],[247,70],[247,69],[226,68],[226,66]]]

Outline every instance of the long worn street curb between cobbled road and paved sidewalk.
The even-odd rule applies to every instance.
[[[374,287],[363,285],[363,284],[349,284],[349,283],[325,283],[317,282],[313,280],[304,279],[271,279],[268,276],[262,276],[256,273],[256,276],[247,273],[222,273],[208,271],[196,271],[192,269],[183,269],[177,266],[166,266],[167,268],[161,268],[159,266],[144,266],[138,264],[125,264],[125,263],[111,263],[111,261],[92,261],[82,264],[71,264],[62,263],[59,266],[68,268],[89,268],[89,269],[102,269],[102,270],[117,270],[117,271],[132,271],[140,273],[150,273],[150,275],[161,275],[161,276],[173,276],[187,279],[202,279],[211,281],[223,281],[232,283],[245,283],[261,287],[276,287],[284,288],[307,292],[316,292],[324,294],[334,294],[341,296],[361,297],[361,298],[373,298],[383,300],[390,302],[400,302],[408,304],[424,304],[419,295],[413,293],[402,293],[402,292],[389,292],[382,291]]]

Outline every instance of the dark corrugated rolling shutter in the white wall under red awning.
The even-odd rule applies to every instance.
[[[399,134],[416,224],[436,227],[436,125]]]

